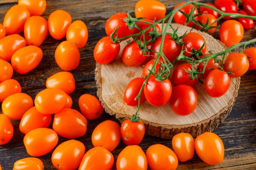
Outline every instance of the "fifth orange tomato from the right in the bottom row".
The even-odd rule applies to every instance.
[[[114,157],[112,153],[98,146],[86,152],[79,166],[79,170],[111,170],[113,164]]]

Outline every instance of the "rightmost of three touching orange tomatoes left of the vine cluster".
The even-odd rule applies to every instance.
[[[81,20],[74,21],[67,29],[67,41],[74,42],[79,49],[83,48],[88,40],[88,30]]]

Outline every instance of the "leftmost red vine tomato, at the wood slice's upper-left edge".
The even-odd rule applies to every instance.
[[[119,43],[112,42],[109,37],[103,37],[94,48],[94,60],[99,64],[108,64],[115,60],[119,51]]]

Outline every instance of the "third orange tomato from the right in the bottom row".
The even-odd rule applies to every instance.
[[[168,147],[155,144],[147,149],[146,156],[151,170],[176,170],[178,159]]]

